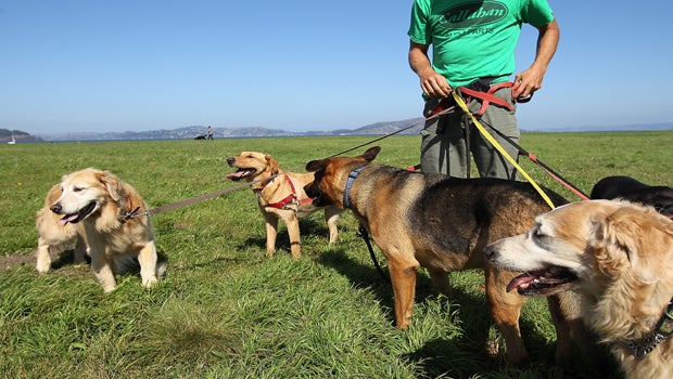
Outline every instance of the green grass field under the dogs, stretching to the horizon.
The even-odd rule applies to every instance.
[[[104,295],[72,252],[47,275],[35,271],[35,213],[62,174],[106,169],[152,207],[233,185],[226,158],[275,156],[288,171],[370,138],[87,142],[0,145],[0,373],[7,378],[589,378],[581,356],[553,365],[546,302],[522,315],[531,355],[522,367],[490,358],[491,325],[480,272],[452,275],[455,297],[439,296],[424,273],[411,327],[393,327],[390,285],[379,277],[350,213],[327,245],[316,214],[302,220],[303,257],[264,257],[264,222],[250,190],[153,217],[168,275],[151,289],[118,276]],[[521,144],[588,193],[600,178],[673,184],[673,132],[524,133]],[[418,136],[392,136],[378,161],[418,162]],[[348,155],[364,152],[359,148]],[[541,184],[579,198],[521,158]],[[377,251],[378,252],[378,251]],[[382,256],[379,260],[384,264]]]

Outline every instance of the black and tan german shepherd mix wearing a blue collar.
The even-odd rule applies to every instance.
[[[448,273],[482,267],[491,313],[507,344],[507,360],[512,364],[525,361],[528,353],[519,330],[525,298],[506,291],[517,273],[488,264],[483,248],[524,233],[549,206],[529,183],[449,179],[371,162],[380,151],[377,146],[355,158],[308,162],[306,170],[315,171],[315,181],[306,186],[306,193],[314,197],[316,206],[351,209],[383,251],[393,285],[397,328],[406,328],[411,321],[420,266],[447,295]],[[567,202],[551,191],[546,193],[557,205]],[[548,299],[558,336],[556,360],[562,364],[571,356],[569,326],[579,323],[577,304],[572,295]],[[490,353],[497,353],[497,347]]]

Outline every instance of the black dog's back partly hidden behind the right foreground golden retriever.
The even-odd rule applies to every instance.
[[[665,185],[647,185],[631,177],[607,177],[592,188],[592,199],[621,198],[652,206],[659,213],[673,217],[673,188]]]

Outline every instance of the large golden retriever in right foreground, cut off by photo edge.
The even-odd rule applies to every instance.
[[[528,233],[486,249],[525,296],[574,290],[583,318],[628,378],[673,377],[673,221],[653,208],[592,200],[537,218]]]

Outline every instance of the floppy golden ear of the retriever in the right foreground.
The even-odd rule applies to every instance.
[[[624,207],[595,226],[589,245],[605,273],[628,270],[644,284],[661,279],[673,258],[673,226],[665,218],[652,209]]]

